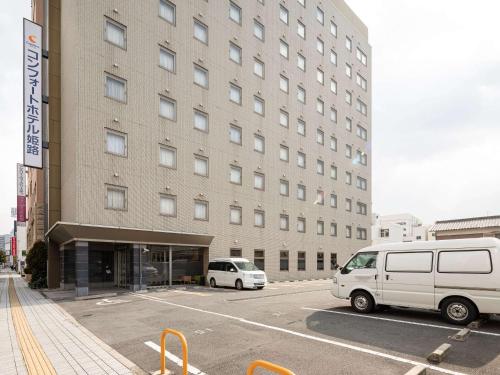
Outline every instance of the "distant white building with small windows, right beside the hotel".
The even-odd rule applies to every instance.
[[[426,241],[428,226],[411,214],[373,214],[372,243]]]

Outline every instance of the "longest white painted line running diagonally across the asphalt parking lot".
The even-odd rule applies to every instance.
[[[351,350],[354,350],[354,351],[357,351],[357,352],[361,352],[361,353],[365,353],[365,354],[371,354],[371,355],[374,355],[374,356],[377,356],[377,357],[381,357],[381,358],[391,359],[391,360],[396,361],[396,362],[406,363],[406,364],[410,364],[410,365],[413,365],[413,366],[419,366],[419,365],[420,366],[425,366],[426,368],[428,368],[430,370],[438,371],[438,372],[441,372],[441,373],[444,373],[444,374],[465,375],[464,373],[461,373],[461,372],[457,372],[457,371],[453,371],[453,370],[448,370],[448,369],[445,369],[445,368],[442,368],[442,367],[439,367],[439,366],[428,365],[426,363],[414,361],[414,360],[403,358],[403,357],[398,357],[398,356],[395,356],[393,354],[378,352],[376,350],[363,348],[361,346],[356,346],[356,345],[347,344],[347,343],[340,342],[340,341],[325,339],[323,337],[313,336],[313,335],[309,335],[309,334],[306,334],[306,333],[292,331],[292,330],[281,328],[281,327],[271,326],[271,325],[268,325],[268,324],[258,323],[258,322],[254,322],[254,321],[251,321],[251,320],[247,320],[245,318],[240,318],[240,317],[232,316],[232,315],[228,315],[228,314],[222,314],[222,313],[218,313],[218,312],[215,312],[215,311],[203,310],[203,309],[199,309],[199,308],[196,308],[196,307],[180,305],[178,303],[168,302],[168,301],[162,300],[161,298],[157,298],[157,297],[151,297],[151,296],[146,296],[146,295],[141,295],[141,294],[135,294],[135,293],[131,293],[131,294],[135,295],[136,297],[142,298],[142,299],[148,299],[150,301],[155,301],[155,302],[158,302],[158,303],[163,303],[163,304],[166,304],[166,305],[175,306],[175,307],[179,307],[179,308],[187,309],[187,310],[191,310],[191,311],[197,311],[197,312],[204,313],[204,314],[210,314],[210,315],[220,316],[220,317],[223,317],[223,318],[227,318],[227,319],[231,319],[231,320],[236,320],[236,321],[239,321],[241,323],[250,324],[250,325],[254,325],[254,326],[257,326],[257,327],[261,327],[261,328],[267,328],[267,329],[270,329],[270,330],[273,330],[273,331],[287,333],[287,334],[290,334],[290,335],[293,335],[293,336],[297,336],[297,337],[301,337],[301,338],[304,338],[304,339],[308,339],[308,340],[311,340],[311,341],[317,341],[317,342],[322,342],[322,343],[325,343],[325,344],[331,344],[331,345],[338,346],[338,347],[341,347],[341,348],[351,349]]]

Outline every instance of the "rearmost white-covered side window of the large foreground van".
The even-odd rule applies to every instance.
[[[489,250],[440,251],[440,273],[491,273],[493,266]]]

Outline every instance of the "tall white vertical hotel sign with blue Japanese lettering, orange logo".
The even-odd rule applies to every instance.
[[[42,168],[42,27],[23,22],[24,165]]]

